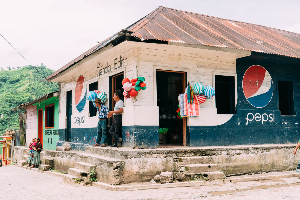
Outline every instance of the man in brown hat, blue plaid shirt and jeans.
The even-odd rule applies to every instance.
[[[108,108],[104,106],[99,98],[95,98],[95,106],[98,107],[97,113],[99,115],[98,119],[98,126],[97,126],[97,139],[96,144],[92,145],[93,147],[101,146],[106,147],[107,143],[107,115],[108,115]],[[101,145],[101,137],[103,135],[103,144]]]

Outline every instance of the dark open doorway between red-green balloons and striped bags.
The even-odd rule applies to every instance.
[[[178,95],[184,93],[186,73],[156,71],[156,96],[159,108],[160,146],[186,146],[186,119],[177,117]],[[163,133],[163,134],[161,134]]]

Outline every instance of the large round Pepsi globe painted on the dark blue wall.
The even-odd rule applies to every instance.
[[[273,82],[268,71],[259,65],[249,67],[243,77],[243,92],[247,101],[256,108],[268,105],[273,96]]]

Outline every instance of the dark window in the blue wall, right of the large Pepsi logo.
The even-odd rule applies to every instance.
[[[278,81],[278,104],[280,115],[294,115],[293,82]]]

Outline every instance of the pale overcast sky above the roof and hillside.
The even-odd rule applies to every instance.
[[[0,34],[31,64],[57,70],[158,6],[300,33],[297,0],[0,0]],[[0,67],[28,63],[0,36]]]

